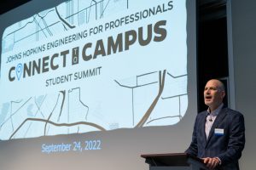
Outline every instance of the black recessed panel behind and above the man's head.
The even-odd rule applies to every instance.
[[[208,80],[212,78],[229,77],[228,42],[226,17],[202,20],[199,16],[198,28],[198,110],[205,111],[203,90]],[[222,80],[227,86],[227,82]],[[228,96],[228,95],[227,95]],[[228,97],[224,99],[228,105]]]

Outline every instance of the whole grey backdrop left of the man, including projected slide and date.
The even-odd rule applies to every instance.
[[[192,0],[39,1],[0,16],[0,163],[147,169],[197,113]]]

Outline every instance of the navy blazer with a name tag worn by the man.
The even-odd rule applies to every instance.
[[[245,144],[242,114],[227,107],[222,108],[212,124],[208,139],[205,133],[206,121],[207,111],[196,116],[192,142],[185,152],[201,158],[218,157],[221,160],[218,169],[238,170],[238,160]],[[215,128],[224,129],[224,134],[216,135]]]

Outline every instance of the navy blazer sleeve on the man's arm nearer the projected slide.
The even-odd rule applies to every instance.
[[[185,151],[185,153],[188,153],[192,156],[197,156],[198,154],[198,147],[197,147],[197,122],[198,122],[198,116],[196,116],[195,124],[194,124],[194,130],[192,134],[192,141],[189,145],[189,148]]]

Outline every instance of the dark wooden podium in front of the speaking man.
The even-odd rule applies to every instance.
[[[149,170],[208,170],[203,161],[187,153],[141,155]]]

